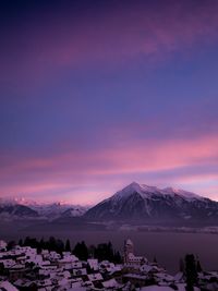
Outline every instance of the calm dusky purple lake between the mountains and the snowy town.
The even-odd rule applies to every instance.
[[[53,235],[60,239],[69,238],[72,245],[84,240],[88,245],[100,242],[112,242],[113,246],[122,252],[123,241],[130,238],[134,243],[135,254],[144,255],[166,267],[169,272],[175,272],[179,268],[179,259],[186,253],[198,255],[203,268],[218,270],[218,235],[203,233],[170,233],[170,232],[136,232],[136,231],[22,231],[7,234],[1,232],[1,238],[11,240],[25,238],[26,235],[48,238]]]

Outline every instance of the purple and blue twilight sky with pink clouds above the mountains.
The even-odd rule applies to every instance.
[[[0,196],[132,181],[218,201],[218,1],[0,2]]]

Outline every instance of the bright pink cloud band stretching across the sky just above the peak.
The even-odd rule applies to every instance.
[[[113,144],[109,148],[93,151],[73,151],[29,158],[5,166],[1,173],[10,171],[61,169],[88,174],[118,173],[125,171],[153,171],[197,165],[218,158],[218,137],[204,136],[194,140],[130,142]],[[11,159],[13,159],[11,157]]]

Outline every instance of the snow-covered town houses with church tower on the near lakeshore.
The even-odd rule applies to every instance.
[[[205,289],[218,290],[218,272],[202,272]],[[15,245],[8,251],[0,241],[0,291],[85,291],[85,290],[144,290],[185,291],[182,272],[170,276],[157,263],[135,256],[133,243],[124,243],[123,264],[89,258],[80,260],[71,252],[38,254],[31,246]],[[195,288],[195,291],[199,289]]]

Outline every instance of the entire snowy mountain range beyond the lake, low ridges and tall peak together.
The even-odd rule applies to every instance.
[[[70,221],[81,218],[83,223],[94,221],[137,225],[216,225],[218,202],[172,187],[158,189],[131,183],[111,197],[88,207],[63,203],[37,204],[0,199],[0,218],[46,219]],[[60,220],[61,219],[61,220]],[[78,220],[76,220],[78,221]]]

